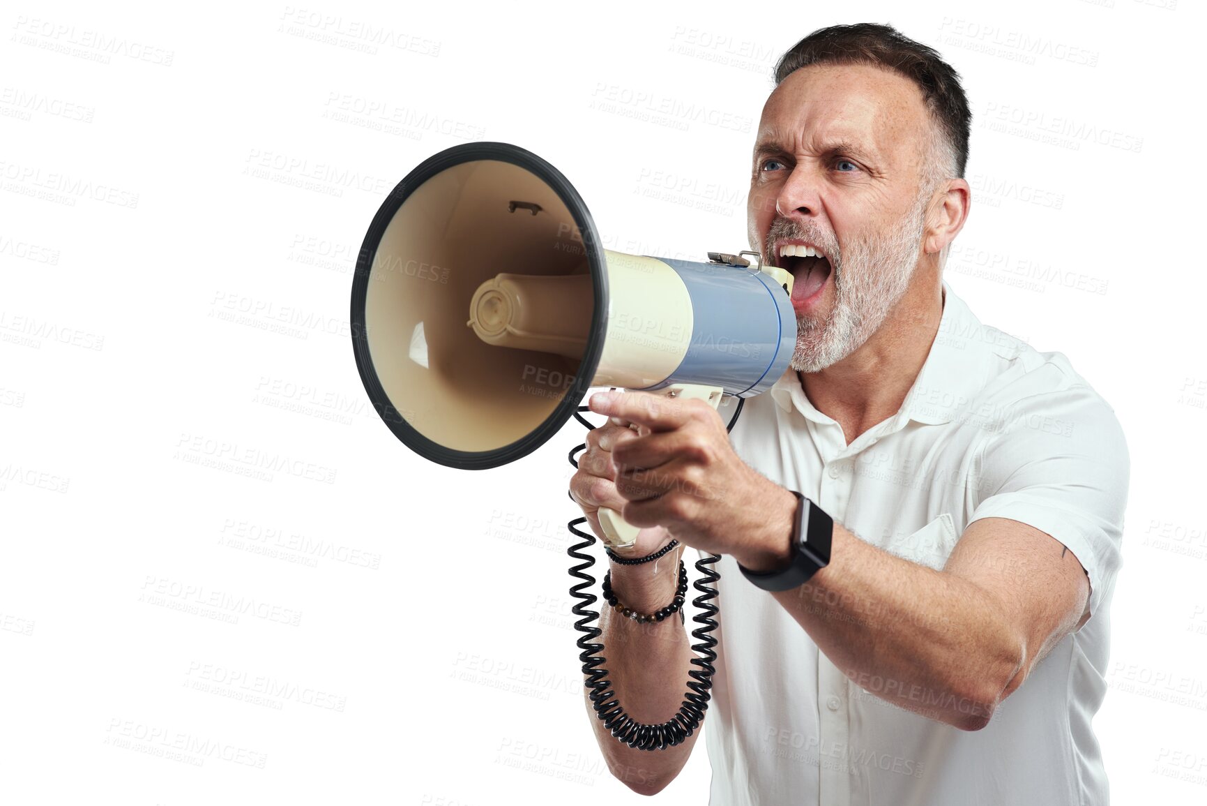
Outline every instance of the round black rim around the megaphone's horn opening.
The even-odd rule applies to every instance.
[[[505,445],[492,451],[456,451],[433,442],[420,434],[393,407],[393,404],[390,402],[385,389],[381,388],[377,371],[373,369],[373,360],[369,356],[368,332],[365,326],[365,303],[368,295],[369,272],[373,267],[373,260],[377,256],[378,244],[381,243],[381,237],[385,234],[385,230],[393,219],[395,213],[398,211],[398,208],[402,207],[403,202],[420,185],[436,174],[463,162],[473,162],[476,160],[497,160],[519,166],[536,174],[558,193],[565,203],[566,209],[570,210],[570,215],[573,216],[575,225],[582,234],[583,248],[587,250],[587,260],[591,271],[595,309],[591,312],[590,337],[587,341],[587,349],[583,353],[578,372],[553,413],[536,429],[511,445]],[[607,300],[607,273],[605,271],[604,250],[599,244],[599,233],[595,231],[595,221],[591,219],[590,210],[587,209],[587,204],[578,195],[578,191],[575,190],[575,186],[570,184],[570,180],[541,157],[517,145],[509,143],[466,143],[456,145],[432,155],[407,174],[390,196],[386,197],[380,209],[378,209],[377,215],[373,216],[373,222],[369,225],[368,233],[365,236],[365,243],[356,259],[356,274],[352,278],[352,311],[350,319],[352,352],[356,355],[356,367],[361,373],[365,390],[368,393],[373,407],[377,408],[378,414],[381,416],[381,419],[393,431],[395,436],[402,440],[415,453],[432,462],[450,468],[486,470],[527,456],[561,430],[566,421],[575,414],[578,402],[590,388],[591,379],[595,377],[595,369],[599,366],[600,354],[604,352],[604,336],[607,330],[607,306],[605,305]]]

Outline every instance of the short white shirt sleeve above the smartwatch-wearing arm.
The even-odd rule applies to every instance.
[[[1005,517],[1051,535],[1090,579],[1090,614],[1123,562],[1131,460],[1123,427],[1097,393],[1080,384],[1010,406],[981,454],[984,495],[969,523]]]

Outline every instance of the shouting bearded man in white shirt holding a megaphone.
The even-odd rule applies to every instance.
[[[748,201],[752,249],[794,277],[792,369],[731,435],[700,401],[591,399],[611,422],[573,498],[597,535],[600,506],[643,527],[636,557],[681,544],[613,562],[617,599],[654,613],[683,545],[722,555],[713,805],[1107,802],[1091,718],[1127,448],[1062,354],[981,325],[941,279],[969,124],[958,75],[894,29],[801,40],[776,68]],[[801,562],[793,491],[833,520],[829,562],[764,590],[759,574]],[[695,668],[680,619],[605,608],[601,628],[620,704],[670,719]],[[643,794],[699,735],[634,750],[591,723]]]

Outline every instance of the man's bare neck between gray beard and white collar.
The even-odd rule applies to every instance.
[[[797,372],[809,401],[842,427],[847,445],[900,411],[941,318],[938,269],[919,266],[909,289],[867,342],[824,370]]]

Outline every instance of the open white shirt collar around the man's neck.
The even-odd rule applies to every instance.
[[[989,381],[992,363],[990,353],[1002,358],[1018,354],[1018,342],[996,327],[986,327],[943,280],[943,315],[939,330],[921,371],[914,379],[897,413],[893,430],[912,419],[937,425],[947,423],[963,410]],[[815,423],[834,421],[820,412],[805,395],[797,372],[788,370],[769,393],[785,411],[793,406]]]

